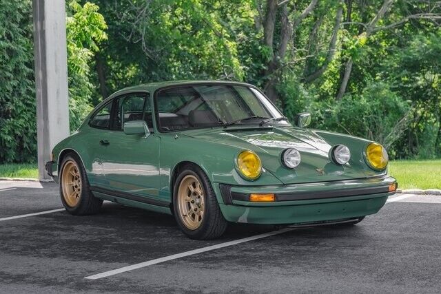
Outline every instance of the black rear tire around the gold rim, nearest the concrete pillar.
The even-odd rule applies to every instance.
[[[79,201],[74,206],[70,206],[68,202],[66,202],[65,197],[63,195],[63,170],[64,166],[68,162],[76,163],[76,166],[79,167],[79,174],[81,177],[81,193],[79,196]],[[75,153],[66,154],[61,160],[61,166],[59,169],[59,189],[60,189],[60,197],[61,202],[63,202],[63,207],[70,214],[75,216],[84,216],[88,214],[97,213],[101,209],[101,205],[103,204],[103,200],[100,198],[96,198],[92,191],[90,190],[90,184],[88,180],[88,176],[85,173],[85,169],[81,162],[81,159]]]

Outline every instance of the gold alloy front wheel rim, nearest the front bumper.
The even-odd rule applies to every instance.
[[[198,178],[193,175],[185,176],[178,189],[179,216],[185,227],[196,230],[201,226],[204,212],[204,192]]]

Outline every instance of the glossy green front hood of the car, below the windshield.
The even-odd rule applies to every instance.
[[[378,176],[367,167],[362,157],[364,149],[360,147],[360,144],[348,144],[345,135],[341,135],[341,142],[337,144],[345,144],[351,151],[351,160],[346,165],[336,165],[331,162],[329,150],[333,145],[316,132],[308,129],[296,127],[230,127],[227,129],[192,130],[185,132],[185,135],[201,140],[209,140],[220,145],[234,146],[238,149],[250,149],[258,154],[260,160],[262,160],[263,168],[284,184],[327,182]],[[351,137],[352,140],[354,138]],[[288,169],[282,164],[280,158],[282,151],[286,148],[296,148],[300,151],[302,161],[295,169]]]

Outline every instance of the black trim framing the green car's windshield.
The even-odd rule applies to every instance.
[[[272,105],[279,113],[280,116],[283,116],[283,113],[280,112],[280,109],[278,109],[276,107],[276,105],[274,105],[274,103],[256,86],[254,85],[250,85],[247,83],[232,83],[232,82],[223,82],[223,81],[216,81],[216,82],[196,82],[196,83],[185,83],[185,84],[176,84],[176,85],[167,85],[165,87],[160,87],[158,89],[156,89],[154,91],[153,94],[153,107],[154,107],[154,123],[156,125],[156,131],[159,133],[176,133],[176,132],[185,132],[185,131],[191,131],[192,129],[213,129],[215,127],[223,127],[224,125],[207,125],[207,126],[203,126],[203,127],[191,127],[188,129],[172,129],[172,130],[165,130],[165,129],[161,129],[161,125],[159,125],[159,112],[158,112],[158,93],[163,91],[163,90],[169,90],[169,89],[173,89],[173,88],[179,88],[179,87],[195,87],[198,85],[228,85],[228,86],[239,86],[239,87],[247,87],[250,90],[255,90],[256,92],[258,92],[259,94],[261,94],[263,96],[263,98],[266,99],[265,103],[263,101],[260,101],[260,97],[258,97],[258,95],[256,95],[254,93],[254,95],[256,95],[256,98],[259,99],[260,103],[262,103],[262,106],[265,107],[265,110],[267,110],[267,112],[269,114],[271,114],[271,112],[269,111],[269,109],[267,108],[266,103],[269,103],[270,105]],[[254,92],[254,91],[252,91]],[[272,114],[271,114],[272,115]],[[239,127],[241,125],[257,125],[258,126],[259,122],[256,123],[252,123],[252,122],[247,122],[247,123],[240,123],[238,125],[234,125],[235,127]],[[261,127],[261,126],[258,126]]]

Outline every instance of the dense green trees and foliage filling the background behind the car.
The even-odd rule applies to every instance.
[[[230,79],[394,158],[441,156],[437,1],[89,1],[68,3],[71,129],[121,87]],[[0,162],[35,153],[30,21],[29,0],[0,5]]]

